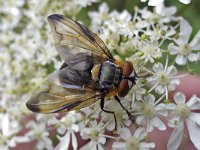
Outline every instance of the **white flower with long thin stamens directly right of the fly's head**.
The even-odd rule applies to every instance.
[[[155,91],[158,94],[163,94],[165,92],[167,95],[169,91],[175,90],[176,86],[180,82],[176,78],[176,67],[173,65],[167,66],[167,61],[168,60],[166,60],[165,67],[161,63],[155,63],[153,65],[154,75],[152,77],[147,78],[149,84],[152,86],[151,90],[155,88]]]

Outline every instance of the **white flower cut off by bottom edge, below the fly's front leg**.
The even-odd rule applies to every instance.
[[[125,140],[124,142],[114,142],[112,148],[114,150],[149,150],[155,147],[154,143],[145,142],[144,138],[147,133],[144,128],[138,128],[132,135],[127,128],[120,129],[120,137]]]

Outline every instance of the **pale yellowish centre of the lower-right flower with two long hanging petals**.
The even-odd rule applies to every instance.
[[[187,119],[190,115],[190,107],[188,107],[186,104],[178,104],[176,106],[176,113],[182,119]]]

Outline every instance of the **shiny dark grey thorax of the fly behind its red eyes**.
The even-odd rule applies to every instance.
[[[121,69],[110,61],[101,65],[99,74],[99,85],[104,89],[116,88],[121,79]]]

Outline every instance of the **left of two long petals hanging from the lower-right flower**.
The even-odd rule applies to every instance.
[[[177,149],[181,144],[183,138],[184,122],[180,122],[179,125],[173,130],[169,141],[167,143],[167,149]]]

